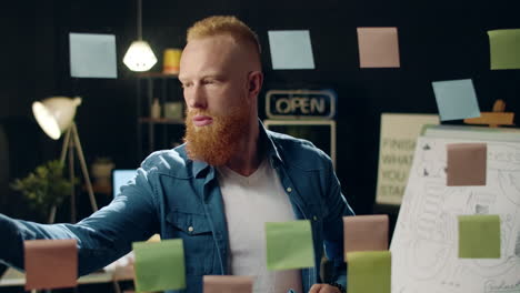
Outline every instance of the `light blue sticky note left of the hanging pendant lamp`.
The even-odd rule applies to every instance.
[[[116,79],[116,36],[69,33],[70,75]]]

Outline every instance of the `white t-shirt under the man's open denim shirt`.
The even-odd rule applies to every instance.
[[[301,292],[300,270],[267,270],[264,223],[296,220],[278,174],[266,159],[249,176],[227,166],[217,170],[228,222],[230,274],[253,276],[254,293]]]

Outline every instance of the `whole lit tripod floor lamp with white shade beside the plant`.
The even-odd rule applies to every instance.
[[[61,149],[60,161],[64,164],[67,154],[69,154],[69,176],[74,179],[74,151],[78,154],[81,171],[87,184],[87,191],[90,198],[92,211],[98,211],[98,204],[93,194],[92,183],[89,176],[89,170],[84,161],[83,150],[78,135],[78,129],[74,123],[76,108],[81,104],[81,98],[73,99],[67,97],[52,97],[41,102],[32,103],[32,113],[38,124],[51,139],[58,140],[64,133],[63,146]],[[56,214],[56,206],[51,209],[51,220]],[[70,219],[76,223],[76,189],[72,185],[70,196]]]

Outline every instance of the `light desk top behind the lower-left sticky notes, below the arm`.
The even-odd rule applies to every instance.
[[[133,266],[118,266],[113,271],[102,271],[98,273],[91,273],[78,279],[78,285],[82,284],[100,284],[100,283],[113,283],[116,293],[121,293],[119,287],[120,281],[133,280]],[[3,276],[0,279],[0,286],[24,286],[26,274],[9,267]]]

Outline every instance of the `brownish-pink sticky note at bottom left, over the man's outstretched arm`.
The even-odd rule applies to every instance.
[[[78,280],[74,239],[23,242],[26,290],[73,287]]]

